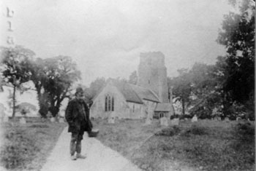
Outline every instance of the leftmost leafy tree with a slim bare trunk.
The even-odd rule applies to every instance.
[[[1,47],[1,65],[3,80],[13,87],[12,92],[12,118],[15,117],[15,96],[16,90],[21,84],[29,81],[29,60],[35,53],[30,49],[21,46]]]

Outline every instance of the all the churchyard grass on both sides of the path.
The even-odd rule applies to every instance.
[[[98,139],[142,170],[254,170],[255,125],[199,120],[160,127],[159,120],[92,121]],[[40,170],[67,124],[30,120],[1,123],[0,164],[8,170]],[[1,169],[1,168],[0,168]]]

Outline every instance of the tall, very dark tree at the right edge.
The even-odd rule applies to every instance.
[[[239,12],[225,15],[217,42],[226,47],[223,91],[232,102],[254,101],[255,1],[230,1]]]

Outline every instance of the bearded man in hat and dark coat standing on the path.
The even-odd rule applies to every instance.
[[[83,100],[83,89],[81,87],[76,89],[75,98],[69,101],[65,117],[69,124],[68,132],[71,132],[71,159],[86,159],[86,156],[81,154],[81,140],[83,140],[85,131],[91,132],[92,124],[89,119],[89,108]]]

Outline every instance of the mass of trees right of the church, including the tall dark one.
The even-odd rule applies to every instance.
[[[255,0],[230,3],[238,12],[224,16],[217,42],[226,55],[215,65],[195,63],[168,79],[173,95],[189,114],[211,117],[214,109],[222,117],[255,116]]]

